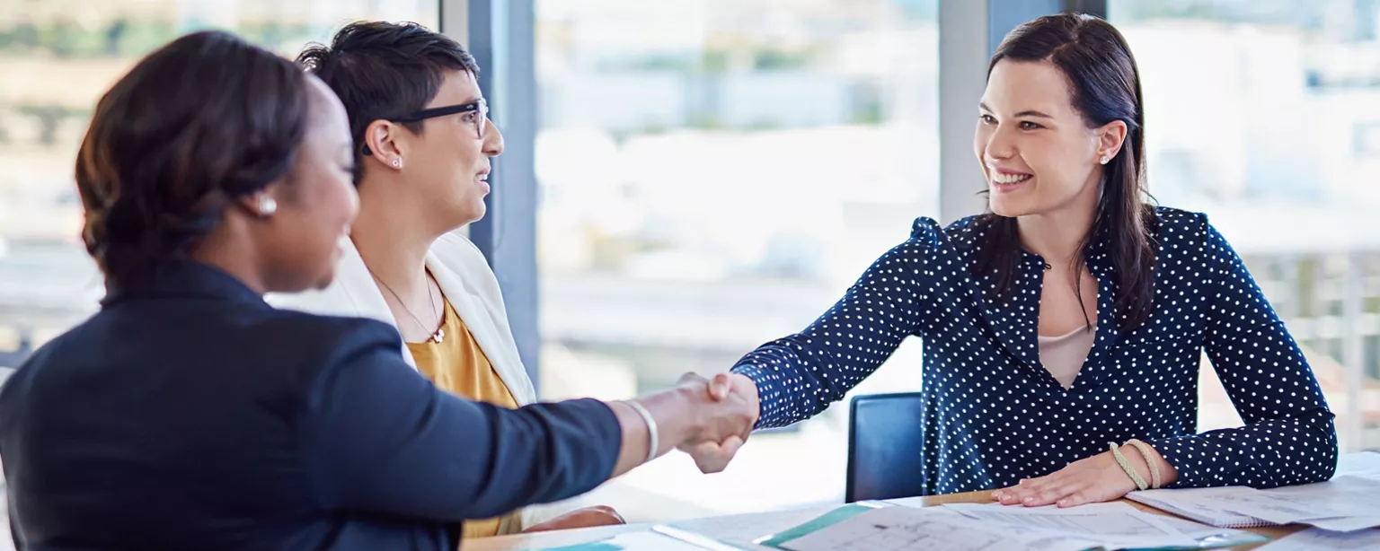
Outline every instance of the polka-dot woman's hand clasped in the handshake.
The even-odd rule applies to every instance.
[[[719,373],[713,379],[686,373],[679,384],[698,390],[702,401],[697,415],[704,430],[676,448],[694,459],[700,472],[719,472],[729,466],[758,423],[758,387],[752,379],[738,373]]]

